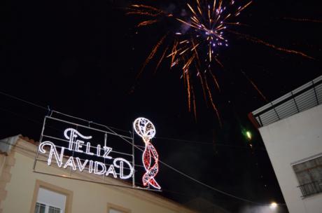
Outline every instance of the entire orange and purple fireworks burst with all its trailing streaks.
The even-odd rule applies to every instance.
[[[176,31],[171,32],[169,30],[169,32],[162,36],[158,43],[156,43],[151,50],[151,53],[146,58],[137,77],[141,75],[148,62],[155,57],[165,41],[169,40],[167,37],[170,37],[171,43],[163,50],[155,71],[160,66],[162,60],[169,58],[171,61],[170,69],[172,67],[180,67],[181,78],[183,78],[187,89],[189,111],[192,111],[193,114],[195,114],[195,118],[197,118],[194,85],[199,82],[204,94],[204,100],[214,109],[216,116],[218,116],[218,120],[221,123],[221,118],[214,102],[212,88],[216,88],[218,91],[221,90],[216,77],[216,67],[214,65],[217,64],[219,67],[223,67],[223,64],[218,58],[218,50],[229,46],[227,34],[230,33],[239,36],[241,39],[246,39],[247,41],[274,48],[275,50],[283,51],[285,53],[297,54],[302,57],[313,59],[313,57],[302,52],[274,46],[253,36],[233,31],[233,27],[242,25],[240,22],[236,21],[237,16],[250,6],[251,3],[252,1],[247,1],[243,5],[237,5],[234,0],[195,0],[193,4],[186,4],[190,15],[184,15],[183,17],[176,17],[172,13],[167,13],[159,8],[143,4],[134,4],[130,6],[130,8],[127,8],[127,15],[140,15],[141,17],[147,18],[147,20],[139,22],[137,27],[153,25],[164,18],[171,18],[177,24],[180,24],[178,25],[179,27],[176,28]],[[244,74],[244,76],[246,76],[246,74]],[[246,76],[246,79],[251,82],[251,85],[259,92],[260,96],[266,100],[255,83],[253,83],[248,76]]]

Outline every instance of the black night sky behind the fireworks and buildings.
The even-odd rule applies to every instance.
[[[220,50],[221,92],[214,100],[223,126],[196,91],[197,121],[188,111],[186,87],[169,60],[154,73],[151,60],[136,79],[155,43],[176,25],[134,27],[125,15],[132,2],[174,13],[186,1],[10,1],[2,8],[0,91],[52,110],[132,130],[139,116],[156,126],[153,144],[160,160],[221,191],[255,202],[283,203],[279,184],[259,132],[247,114],[267,104],[244,71],[272,101],[321,75],[322,15],[318,1],[254,1],[239,16],[237,32],[276,46],[299,50],[314,60],[229,35]],[[178,12],[179,11],[179,12]],[[296,21],[288,18],[307,18]],[[211,88],[215,90],[215,88]],[[22,134],[38,140],[48,111],[0,94],[0,138]],[[243,132],[252,132],[253,149]],[[157,176],[167,198],[186,204],[204,198],[239,212],[251,203],[230,198],[160,166]],[[281,207],[281,212],[286,212]]]

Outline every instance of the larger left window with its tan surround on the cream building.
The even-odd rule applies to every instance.
[[[36,180],[30,213],[71,213],[73,192]]]

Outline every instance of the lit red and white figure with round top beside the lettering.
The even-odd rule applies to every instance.
[[[151,121],[146,118],[137,118],[134,123],[134,130],[137,132],[146,144],[144,153],[142,155],[142,162],[146,173],[142,177],[143,185],[153,186],[154,188],[160,189],[161,186],[155,181],[155,176],[158,174],[158,152],[155,150],[154,146],[151,144],[151,139],[155,136],[155,127]],[[152,165],[152,158],[154,163]],[[152,166],[151,166],[152,165]]]

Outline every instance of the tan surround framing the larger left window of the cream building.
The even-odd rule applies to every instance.
[[[71,213],[73,191],[69,191],[66,188],[62,188],[60,186],[55,186],[53,184],[49,184],[45,181],[41,181],[38,179],[36,179],[36,183],[35,183],[34,195],[32,197],[32,201],[31,201],[30,213],[34,213],[34,211],[35,211],[39,188],[45,188],[49,191],[65,195],[66,196],[66,204],[65,204],[65,209],[62,209],[62,210],[64,213]],[[42,202],[39,202],[39,203],[42,203]],[[54,207],[53,205],[50,205],[50,204],[46,204],[46,203],[43,203],[43,204]]]

